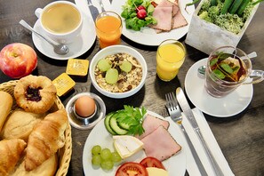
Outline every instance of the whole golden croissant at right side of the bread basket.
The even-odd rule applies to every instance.
[[[36,169],[64,146],[67,125],[68,116],[65,109],[48,114],[44,120],[36,124],[28,137],[26,171]]]

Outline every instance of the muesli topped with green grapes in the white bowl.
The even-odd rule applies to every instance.
[[[102,69],[99,66],[99,61],[94,72],[95,80],[102,89],[108,92],[128,92],[140,84],[142,79],[142,67],[140,62],[132,55],[122,52],[108,55],[102,60],[107,60],[105,62],[107,62],[109,66],[106,67],[106,63],[104,63]],[[124,68],[124,63],[128,63],[129,66],[131,64],[131,66]],[[108,73],[108,71],[114,73]],[[110,76],[107,77],[107,75]],[[110,79],[110,81],[107,81],[107,79]],[[116,81],[113,81],[113,79],[116,79]],[[109,82],[111,84],[109,84]]]

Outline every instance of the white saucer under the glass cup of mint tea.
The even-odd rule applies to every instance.
[[[204,76],[197,68],[206,65],[206,60],[199,60],[188,69],[185,77],[185,90],[189,100],[205,114],[216,117],[235,116],[248,107],[252,100],[252,84],[243,84],[226,97],[214,98],[204,88]]]

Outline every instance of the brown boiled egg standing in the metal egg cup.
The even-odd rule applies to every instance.
[[[87,117],[91,116],[96,108],[95,101],[90,96],[82,96],[76,100],[75,110],[79,116]]]

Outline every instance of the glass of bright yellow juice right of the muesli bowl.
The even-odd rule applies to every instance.
[[[177,76],[185,60],[186,49],[174,39],[159,44],[156,52],[156,74],[163,81],[171,81]]]

